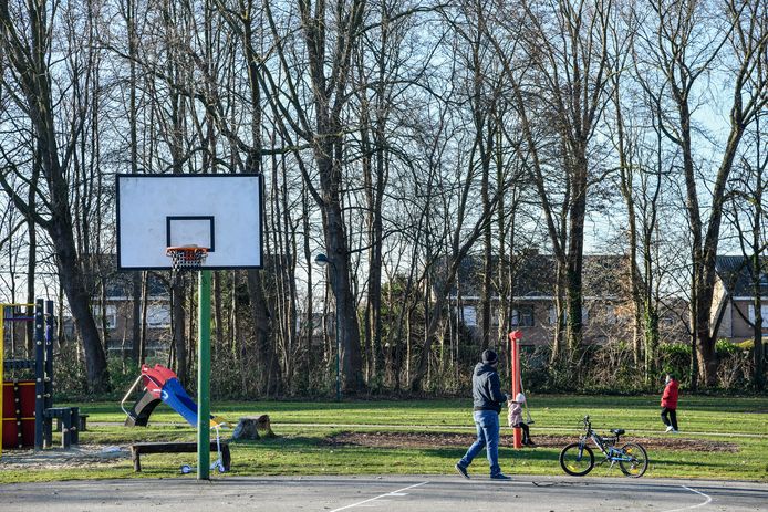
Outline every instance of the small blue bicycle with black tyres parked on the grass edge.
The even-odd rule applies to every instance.
[[[592,430],[590,417],[584,416],[584,433],[579,438],[579,441],[572,442],[562,449],[560,452],[560,467],[563,471],[573,477],[583,477],[594,468],[594,452],[587,442],[591,439],[592,442],[605,456],[605,459],[598,462],[603,464],[611,462],[611,468],[619,462],[621,471],[630,478],[640,478],[648,468],[648,454],[641,445],[630,442],[621,448],[616,448],[619,439],[624,435],[624,429],[612,429],[612,437],[601,437]],[[609,469],[611,469],[609,468]]]

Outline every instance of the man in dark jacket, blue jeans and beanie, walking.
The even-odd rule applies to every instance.
[[[494,480],[510,480],[499,467],[499,412],[501,405],[507,401],[507,395],[501,393],[501,383],[496,367],[499,356],[494,351],[482,353],[482,363],[475,366],[473,374],[473,398],[477,440],[469,447],[467,453],[456,462],[456,471],[464,478],[469,478],[467,467],[482,450],[488,453],[490,478]]]

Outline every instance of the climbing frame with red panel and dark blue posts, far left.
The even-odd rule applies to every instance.
[[[34,307],[28,316],[22,309]],[[34,304],[0,304],[0,437],[2,448],[50,448],[53,418],[62,426],[62,447],[79,442],[80,409],[53,407],[53,301]],[[34,358],[4,359],[6,323],[34,322]],[[6,370],[34,370],[34,379],[3,380]],[[1,453],[0,448],[0,453]]]

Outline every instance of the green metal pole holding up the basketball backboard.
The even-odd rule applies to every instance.
[[[197,479],[210,480],[210,270],[200,271],[197,309]]]

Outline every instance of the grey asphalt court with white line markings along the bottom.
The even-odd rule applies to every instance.
[[[513,476],[214,477],[0,485],[0,511],[768,511],[768,484]]]

